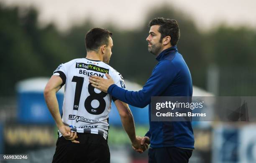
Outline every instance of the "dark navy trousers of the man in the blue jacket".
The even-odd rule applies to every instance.
[[[149,148],[148,163],[188,163],[191,149],[177,147]]]

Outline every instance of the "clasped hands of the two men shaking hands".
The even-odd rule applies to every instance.
[[[148,145],[150,144],[150,139],[147,136],[140,137],[136,136],[136,139],[132,141],[133,149],[138,153],[143,153],[146,149],[148,149]]]

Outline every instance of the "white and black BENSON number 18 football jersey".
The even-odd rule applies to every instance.
[[[59,75],[62,85],[65,85],[62,121],[73,131],[100,134],[107,138],[112,97],[89,83],[90,76],[107,78],[105,73],[113,78],[116,85],[125,88],[121,74],[100,60],[74,59],[59,65],[54,71],[53,75]]]

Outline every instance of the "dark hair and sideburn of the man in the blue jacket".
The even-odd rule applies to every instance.
[[[162,42],[162,39],[164,37],[170,36],[172,46],[177,45],[177,42],[179,40],[179,25],[176,20],[155,18],[152,19],[148,24],[149,27],[151,27],[152,25],[160,25],[158,29],[159,33],[161,33],[160,43]]]

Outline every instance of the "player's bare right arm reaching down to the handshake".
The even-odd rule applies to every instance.
[[[143,150],[145,150],[145,147],[141,146],[141,137],[136,136],[133,115],[128,104],[123,103],[120,100],[115,100],[115,106],[118,109],[123,128],[129,136],[133,147],[142,153]]]

